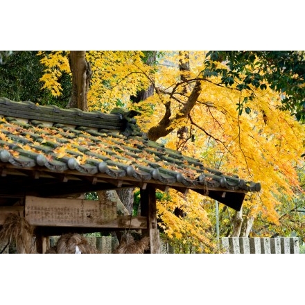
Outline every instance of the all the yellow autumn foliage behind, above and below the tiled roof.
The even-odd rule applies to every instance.
[[[202,92],[189,116],[173,120],[169,127],[175,130],[158,141],[168,148],[182,150],[184,155],[202,159],[204,166],[260,182],[261,192],[247,195],[244,204],[250,215],[260,214],[269,223],[278,224],[277,211],[281,207],[278,198],[284,194],[293,199],[296,191],[302,191],[296,170],[303,163],[304,125],[290,113],[279,110],[280,96],[269,88],[251,87],[255,98],[246,105],[251,112],[240,116],[236,108],[247,92],[241,94],[234,87],[220,85],[217,76],[204,79],[200,72],[204,69],[206,53],[189,52],[190,71],[180,71],[179,62],[184,57],[177,51],[163,51],[154,71],[155,68],[143,63],[141,51],[87,51],[93,72],[89,110],[109,112],[120,101],[130,110],[141,109],[137,123],[141,130],[148,132],[162,119],[168,103],[171,118],[175,118],[187,102],[195,80],[202,79]],[[46,73],[41,80],[53,95],[61,92],[57,82],[60,71],[69,73],[67,54],[53,51],[42,60]],[[193,81],[182,82],[181,76]],[[159,91],[155,90],[153,96],[137,105],[130,103],[130,96],[146,89],[152,81]],[[186,127],[186,132],[180,137],[177,130],[182,127]],[[211,200],[193,192],[187,195],[187,200],[176,191],[170,194],[171,200],[157,204],[164,233],[184,242],[191,240],[198,249],[202,250],[202,244],[211,249],[211,224],[204,207],[204,202]],[[186,217],[175,216],[175,207],[180,207]],[[207,247],[202,251],[207,251]]]

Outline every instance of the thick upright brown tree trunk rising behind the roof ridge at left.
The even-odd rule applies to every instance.
[[[72,94],[69,101],[69,108],[88,110],[87,94],[92,70],[87,62],[86,51],[70,51],[69,64],[72,73]]]

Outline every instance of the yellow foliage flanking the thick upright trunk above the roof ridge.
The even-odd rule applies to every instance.
[[[59,79],[62,72],[71,74],[69,51],[40,51],[42,64],[46,67],[40,81],[42,89],[53,96],[62,92]],[[142,61],[141,51],[87,51],[86,60],[92,69],[92,79],[87,96],[88,109],[110,112],[120,105],[127,105],[130,95],[146,89],[150,84],[153,69]]]

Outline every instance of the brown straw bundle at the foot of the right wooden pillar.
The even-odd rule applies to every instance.
[[[131,234],[124,234],[121,238],[119,247],[114,251],[115,254],[143,254],[149,249],[149,237],[145,236],[139,241],[134,241]]]

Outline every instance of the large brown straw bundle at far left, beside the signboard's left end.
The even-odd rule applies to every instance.
[[[19,215],[8,215],[0,231],[0,241],[15,243],[17,253],[35,253],[34,229]]]

